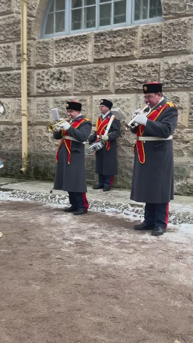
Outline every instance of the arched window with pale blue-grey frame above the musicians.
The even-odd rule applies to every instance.
[[[160,0],[50,0],[41,36],[162,20]]]

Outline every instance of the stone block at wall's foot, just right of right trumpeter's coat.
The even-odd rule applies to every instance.
[[[174,164],[174,194],[186,194],[187,173],[187,164]]]

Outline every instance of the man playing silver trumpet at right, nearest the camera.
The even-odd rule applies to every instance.
[[[132,117],[138,123],[131,128],[136,133],[135,159],[131,200],[144,202],[144,222],[135,230],[152,230],[159,236],[166,232],[169,202],[173,200],[172,133],[177,126],[178,110],[162,95],[162,84],[143,85],[145,103],[151,107],[146,116],[140,109]]]

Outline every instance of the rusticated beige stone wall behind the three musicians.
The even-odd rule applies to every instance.
[[[46,0],[28,1],[28,147],[27,177],[53,179],[58,142],[46,131],[50,108],[65,116],[64,102],[77,99],[93,128],[102,97],[120,106],[126,121],[143,106],[142,84],[164,83],[164,94],[179,108],[174,133],[176,194],[193,195],[193,4],[164,0],[164,22],[39,39]],[[1,174],[21,167],[20,1],[1,0],[0,118]],[[131,186],[134,136],[122,123],[118,141],[119,175],[114,186]],[[94,172],[95,157],[86,157]]]

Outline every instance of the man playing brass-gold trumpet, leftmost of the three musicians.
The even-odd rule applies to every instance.
[[[75,215],[84,214],[88,210],[84,149],[92,123],[81,114],[81,108],[81,103],[67,102],[66,109],[71,122],[61,123],[61,130],[53,132],[53,138],[61,140],[56,156],[53,189],[68,192],[71,206],[65,208],[64,212],[73,212]]]

